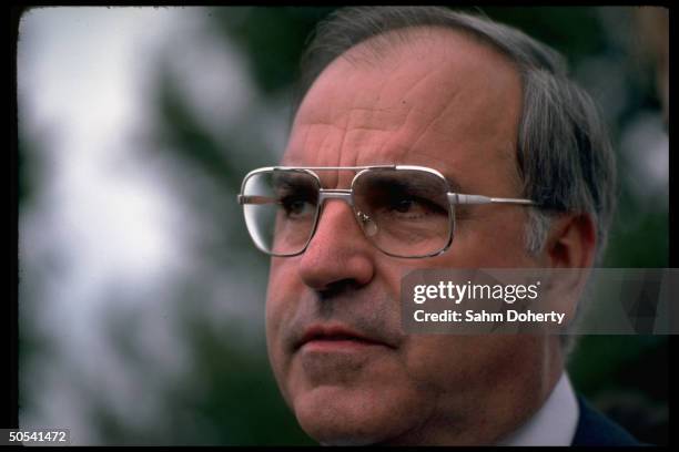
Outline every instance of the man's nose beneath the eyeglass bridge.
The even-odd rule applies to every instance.
[[[338,282],[367,285],[375,274],[375,249],[356,222],[354,210],[340,199],[327,199],[316,233],[301,256],[300,277],[315,290]]]

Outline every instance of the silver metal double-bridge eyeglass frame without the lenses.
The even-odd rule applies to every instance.
[[[352,179],[352,184],[349,188],[323,188],[323,185],[321,184],[321,177],[318,177],[318,175],[316,173],[314,173],[315,171],[357,171],[358,173],[354,176],[354,178]],[[354,191],[354,183],[356,182],[356,179],[364,173],[368,172],[368,171],[375,171],[375,170],[396,170],[396,171],[403,171],[403,170],[408,170],[408,171],[422,171],[422,172],[426,172],[429,174],[435,175],[436,177],[440,178],[443,181],[443,183],[446,186],[446,196],[448,198],[448,202],[450,203],[450,209],[448,210],[448,223],[449,223],[449,227],[448,227],[448,238],[446,240],[446,245],[444,245],[444,247],[435,253],[430,253],[430,254],[426,254],[426,255],[419,255],[419,256],[399,256],[399,255],[395,255],[392,253],[387,253],[384,249],[382,249],[379,246],[377,246],[373,239],[367,236],[367,234],[365,233],[365,229],[363,228],[363,226],[361,225],[361,222],[365,222],[366,218],[362,218],[361,215],[364,215],[362,212],[356,210],[355,205],[354,205],[354,198],[353,198],[353,191]],[[536,205],[536,203],[534,201],[530,199],[523,199],[523,198],[504,198],[504,197],[488,197],[488,196],[482,196],[482,195],[467,195],[467,194],[462,194],[462,193],[455,193],[450,191],[450,184],[448,183],[448,181],[446,179],[446,177],[440,174],[438,171],[426,167],[426,166],[415,166],[415,165],[369,165],[369,166],[265,166],[262,168],[257,168],[257,170],[253,170],[250,173],[247,173],[245,175],[245,177],[243,178],[243,183],[241,184],[241,193],[236,196],[236,201],[239,204],[241,204],[243,206],[243,214],[245,215],[245,205],[246,204],[265,204],[268,203],[271,199],[270,198],[262,198],[260,196],[246,196],[243,195],[243,191],[245,188],[245,184],[247,183],[247,179],[256,174],[260,173],[266,173],[266,172],[275,172],[275,171],[297,171],[297,172],[303,172],[306,173],[308,175],[311,175],[312,177],[314,177],[314,179],[316,181],[316,183],[318,184],[318,204],[316,206],[316,213],[314,214],[314,226],[312,228],[312,232],[308,236],[308,239],[306,240],[306,244],[304,244],[304,247],[298,251],[298,253],[293,253],[293,254],[275,254],[272,251],[268,251],[266,249],[263,249],[262,247],[260,247],[260,245],[257,244],[256,240],[254,240],[254,238],[252,237],[252,233],[251,233],[251,238],[253,238],[253,242],[255,244],[255,246],[257,247],[257,249],[260,249],[261,251],[270,255],[270,256],[274,256],[274,257],[293,257],[293,256],[298,256],[301,254],[303,254],[306,248],[308,247],[308,244],[311,243],[312,238],[314,238],[314,235],[316,234],[316,228],[318,226],[318,218],[321,217],[321,212],[322,212],[322,207],[323,207],[323,203],[326,199],[343,199],[351,207],[352,210],[354,212],[355,218],[357,222],[359,222],[359,227],[361,230],[363,232],[363,234],[366,236],[366,238],[368,239],[368,242],[371,242],[375,248],[379,249],[379,251],[384,253],[387,256],[392,256],[392,257],[398,257],[398,258],[406,258],[406,259],[422,259],[422,258],[426,258],[426,257],[434,257],[434,256],[439,256],[443,253],[445,253],[449,247],[450,244],[453,243],[453,237],[454,237],[454,233],[455,233],[455,206],[456,205],[474,205],[474,204],[518,204],[518,205],[525,205],[525,206],[534,206]]]

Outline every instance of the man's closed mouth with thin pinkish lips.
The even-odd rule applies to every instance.
[[[388,347],[345,327],[312,326],[295,345],[295,351],[359,351],[369,347]]]

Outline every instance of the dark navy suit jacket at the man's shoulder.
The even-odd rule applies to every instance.
[[[646,445],[578,396],[580,419],[571,445]]]

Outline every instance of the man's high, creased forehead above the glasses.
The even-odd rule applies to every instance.
[[[511,62],[467,34],[430,28],[382,37],[317,78],[283,163],[415,164],[445,175],[474,161],[514,167],[520,104]]]

